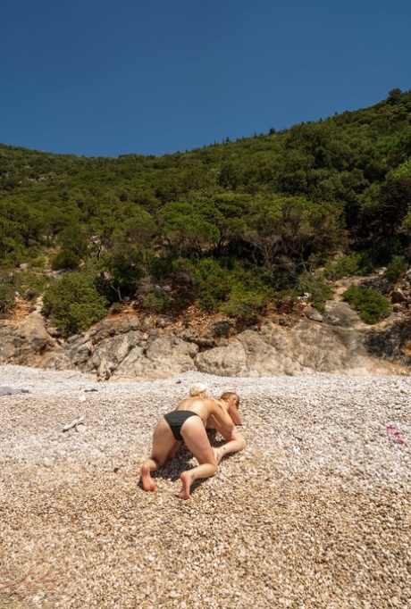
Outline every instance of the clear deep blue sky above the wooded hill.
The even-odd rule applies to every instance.
[[[5,0],[0,142],[172,154],[411,89],[409,0]]]

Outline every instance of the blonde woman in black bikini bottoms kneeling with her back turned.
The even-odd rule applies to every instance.
[[[223,400],[208,397],[205,383],[197,383],[189,390],[190,397],[182,400],[177,409],[165,414],[155,426],[151,457],[141,466],[141,481],[144,490],[156,491],[151,472],[162,467],[176,440],[184,440],[196,457],[198,465],[180,475],[181,499],[189,499],[189,489],[197,478],[209,478],[217,471],[214,450],[206,433],[206,422],[214,417],[220,428],[227,433],[234,430],[229,406]]]

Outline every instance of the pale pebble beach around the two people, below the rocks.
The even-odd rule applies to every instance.
[[[239,392],[247,448],[189,501],[181,448],[145,493],[155,422],[195,380]],[[407,377],[97,383],[3,366],[0,386],[29,390],[0,397],[2,609],[411,608]],[[87,428],[64,433],[79,415]]]

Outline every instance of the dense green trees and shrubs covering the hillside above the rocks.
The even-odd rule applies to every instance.
[[[386,266],[393,283],[411,263],[410,156],[411,91],[400,89],[161,157],[0,145],[0,313],[16,292],[44,294],[43,313],[69,336],[128,300],[247,322],[284,295],[310,292],[321,310],[327,282],[345,275]]]

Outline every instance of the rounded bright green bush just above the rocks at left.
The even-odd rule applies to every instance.
[[[46,289],[42,313],[68,337],[88,330],[102,319],[106,304],[105,297],[97,292],[93,276],[71,272]]]

